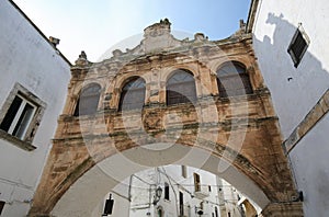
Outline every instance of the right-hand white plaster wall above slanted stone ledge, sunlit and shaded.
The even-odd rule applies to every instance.
[[[329,88],[328,11],[327,0],[260,0],[253,26],[254,52],[284,138]],[[310,44],[295,68],[287,48],[298,23]]]

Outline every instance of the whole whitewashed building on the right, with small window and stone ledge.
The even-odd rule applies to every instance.
[[[248,23],[305,216],[329,207],[328,12],[327,0],[253,0]]]

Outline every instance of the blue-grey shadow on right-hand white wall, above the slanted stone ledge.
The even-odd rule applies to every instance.
[[[254,36],[253,45],[265,84],[272,93],[282,133],[287,138],[328,90],[329,73],[324,69],[322,62],[309,52],[317,48],[314,45],[321,44],[317,42],[320,36],[309,38],[299,65],[294,67],[287,49],[298,27],[285,20],[283,14],[269,13],[265,23],[275,26],[273,36]],[[303,23],[300,26],[303,30]],[[308,39],[307,33],[310,34],[310,30],[305,33]]]

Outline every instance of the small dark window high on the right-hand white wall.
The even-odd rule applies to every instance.
[[[293,59],[294,67],[296,68],[298,67],[308,47],[308,44],[309,44],[308,36],[306,35],[305,31],[299,24],[287,49],[288,54]]]

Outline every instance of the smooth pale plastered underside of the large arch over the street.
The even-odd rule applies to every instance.
[[[163,149],[163,147],[167,148]],[[141,158],[141,156],[148,156],[148,158]],[[113,155],[92,167],[61,196],[52,214],[63,217],[97,216],[93,214],[95,214],[95,210],[101,210],[101,208],[97,207],[99,204],[103,205],[105,195],[129,175],[154,167],[172,163],[201,168],[219,175],[240,192],[243,192],[245,195],[248,195],[261,208],[265,207],[269,199],[263,191],[234,165],[229,165],[228,162],[226,162],[228,165],[227,170],[218,172],[219,161],[223,163],[223,159],[209,155],[204,149],[186,147],[180,144],[137,146]]]

